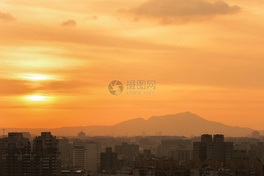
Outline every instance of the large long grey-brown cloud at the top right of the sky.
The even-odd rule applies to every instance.
[[[118,12],[132,13],[138,16],[161,19],[161,23],[183,23],[213,15],[234,14],[241,10],[239,6],[230,6],[226,2],[214,3],[204,0],[150,0],[136,8],[119,9]],[[136,21],[136,20],[133,20]]]

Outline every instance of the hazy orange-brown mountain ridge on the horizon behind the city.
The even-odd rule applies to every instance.
[[[200,136],[201,134],[223,134],[225,136],[247,136],[254,129],[233,127],[220,122],[208,121],[196,114],[185,112],[165,116],[152,116],[148,120],[135,118],[111,126],[75,126],[61,128],[5,128],[6,132],[30,132],[40,135],[40,132],[50,131],[53,135],[77,136],[80,129],[84,129],[86,135],[91,136],[142,136],[144,131],[146,135],[156,135],[161,131],[162,135],[170,136]],[[260,135],[264,130],[259,130]]]

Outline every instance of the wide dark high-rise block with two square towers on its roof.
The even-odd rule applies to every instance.
[[[233,142],[224,142],[224,135],[201,135],[201,142],[193,142],[193,159],[206,161],[214,159],[218,162],[227,164],[228,160],[233,159]]]

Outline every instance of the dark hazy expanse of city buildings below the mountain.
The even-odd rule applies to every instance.
[[[0,175],[263,175],[264,136],[257,131],[249,137],[191,138],[85,136],[80,131],[78,137],[9,132],[0,139]]]

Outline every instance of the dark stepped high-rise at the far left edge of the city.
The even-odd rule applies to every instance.
[[[8,133],[0,139],[0,176],[28,175],[31,146],[21,132]]]

